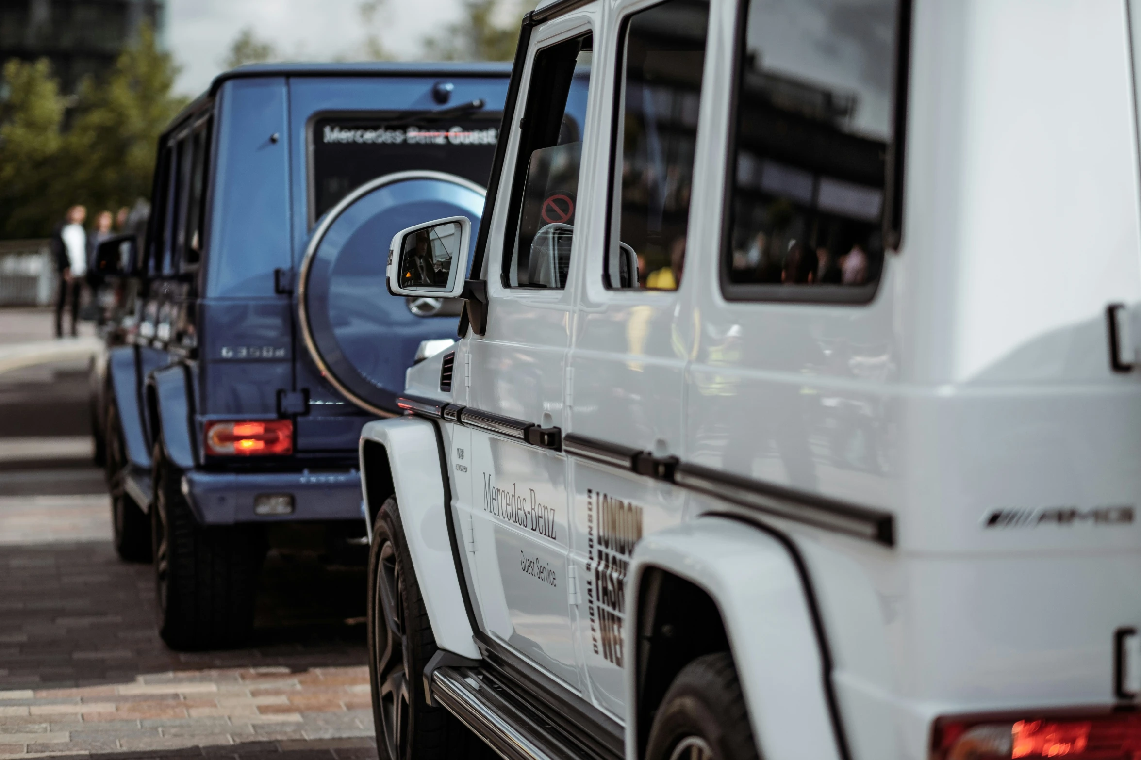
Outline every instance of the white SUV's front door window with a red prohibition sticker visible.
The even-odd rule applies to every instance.
[[[566,287],[591,50],[583,34],[535,55],[508,212],[507,287]]]

